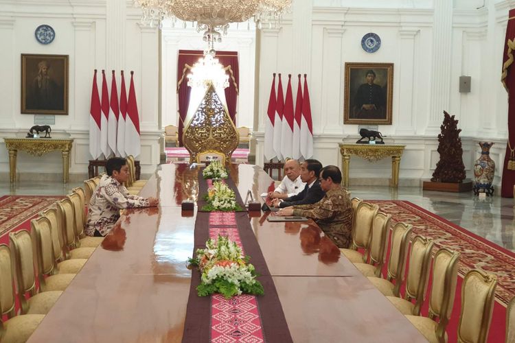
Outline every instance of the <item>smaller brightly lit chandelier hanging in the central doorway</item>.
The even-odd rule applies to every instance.
[[[215,89],[223,90],[229,87],[229,75],[224,66],[215,58],[214,49],[206,49],[204,57],[193,64],[192,72],[187,75],[187,85],[196,88],[207,88],[213,84]]]

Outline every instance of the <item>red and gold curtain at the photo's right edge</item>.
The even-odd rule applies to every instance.
[[[506,156],[503,165],[503,180],[501,182],[501,196],[512,198],[513,186],[515,185],[515,170],[512,167],[513,150],[515,149],[515,70],[514,70],[514,51],[515,50],[515,10],[510,10],[508,14],[508,25],[506,28],[506,40],[503,54],[503,74],[501,80],[508,92],[508,143]],[[511,148],[511,149],[510,149]],[[512,163],[510,162],[512,156]]]

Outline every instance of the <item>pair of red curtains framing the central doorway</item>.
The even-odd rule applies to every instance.
[[[190,104],[191,88],[187,86],[187,74],[190,68],[204,56],[203,51],[198,50],[179,50],[179,60],[177,62],[177,95],[179,95],[179,146],[183,146],[183,129],[187,108]],[[240,72],[238,68],[237,51],[217,51],[216,58],[225,67],[229,75],[229,87],[225,88],[225,99],[227,100],[227,110],[229,116],[236,125],[236,104],[238,104],[238,92],[240,84]]]

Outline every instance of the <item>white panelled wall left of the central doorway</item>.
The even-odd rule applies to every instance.
[[[159,34],[139,25],[141,10],[126,0],[0,1],[0,134],[25,137],[34,125],[34,115],[22,115],[20,108],[21,54],[69,55],[69,115],[56,115],[52,137],[74,139],[71,179],[87,174],[89,154],[89,106],[93,69],[106,69],[111,88],[111,70],[135,71],[135,90],[141,128],[141,171],[150,173],[159,163],[158,98]],[[34,38],[41,24],[51,25],[56,38],[42,45]],[[100,74],[101,75],[101,74]],[[7,81],[7,82],[5,82]],[[98,86],[102,78],[98,78]],[[119,79],[117,80],[119,87]],[[0,142],[0,174],[9,171],[8,153]],[[37,165],[37,170],[34,170]],[[18,154],[17,170],[30,177],[52,177],[62,171],[60,153],[38,158]],[[37,171],[37,174],[34,172]],[[60,179],[61,176],[56,176]],[[22,177],[23,179],[23,177]],[[26,178],[25,178],[26,179]]]

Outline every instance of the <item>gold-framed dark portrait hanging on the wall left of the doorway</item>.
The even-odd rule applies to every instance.
[[[68,55],[21,54],[21,113],[68,114]]]

